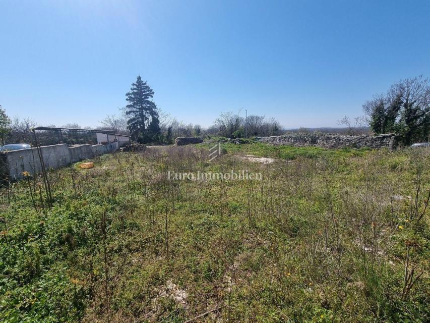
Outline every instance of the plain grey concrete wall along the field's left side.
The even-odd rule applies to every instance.
[[[52,146],[41,146],[40,152],[46,169],[60,168],[76,161],[93,158],[105,153],[118,150],[118,143],[111,142],[105,145],[74,145],[68,147],[67,144]],[[13,150],[1,153],[0,168],[3,165],[3,173],[9,174],[11,180],[23,178],[22,172],[34,174],[42,167],[37,148]],[[3,163],[1,163],[1,161]]]

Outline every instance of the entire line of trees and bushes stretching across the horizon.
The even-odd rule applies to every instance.
[[[221,113],[208,128],[186,124],[171,118],[157,107],[153,101],[154,91],[139,75],[126,93],[127,105],[119,109],[118,115],[107,115],[100,121],[96,130],[113,130],[117,134],[132,136],[132,140],[141,143],[171,144],[176,137],[213,137],[228,138],[252,136],[276,136],[286,132],[275,119],[264,116],[233,112]],[[350,120],[343,117],[338,123],[345,126],[350,135],[366,133],[367,127],[378,135],[395,133],[399,142],[430,141],[430,82],[422,76],[404,79],[394,83],[384,94],[375,95],[363,104],[363,117]],[[6,143],[33,143],[31,128],[37,124],[29,118],[10,119],[0,105],[0,140]],[[55,127],[55,125],[49,125]],[[64,128],[81,128],[78,124],[66,124]],[[85,129],[91,129],[85,127]],[[305,128],[296,130],[309,132]],[[39,134],[43,145],[58,143],[55,132],[45,131]],[[69,144],[96,142],[94,134],[72,131],[64,133],[62,141]]]

